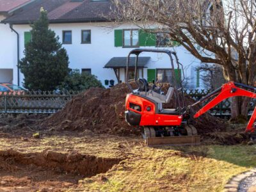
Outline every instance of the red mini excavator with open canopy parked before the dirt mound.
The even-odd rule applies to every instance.
[[[168,88],[166,95],[161,92],[159,86],[153,81],[149,86],[144,78],[138,78],[138,58],[141,52],[156,52],[168,54],[172,68],[172,86]],[[134,79],[128,79],[129,62],[131,55],[135,55]],[[175,60],[173,60],[173,58]],[[134,49],[127,56],[126,84],[131,90],[125,99],[125,120],[129,125],[141,128],[141,134],[148,146],[156,145],[199,145],[200,135],[190,123],[191,118],[198,118],[209,109],[230,97],[245,96],[256,98],[256,88],[246,84],[228,82],[217,90],[209,93],[191,106],[184,106],[184,90],[182,88],[181,74],[175,75],[175,65],[178,71],[184,71],[176,52],[159,49]],[[184,74],[183,74],[184,76]],[[130,82],[135,81],[137,89],[133,89]],[[251,91],[249,91],[251,90]],[[211,99],[203,108],[192,114],[193,106]],[[173,109],[164,109],[163,104],[173,102]],[[246,127],[246,132],[255,132],[256,108]],[[207,129],[205,127],[205,129]]]

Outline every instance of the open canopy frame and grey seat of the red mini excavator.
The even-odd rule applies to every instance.
[[[138,57],[141,54],[141,52],[156,52],[156,53],[164,53],[168,54],[170,57],[170,68],[172,69],[172,82],[166,82],[171,84],[171,86],[168,88],[168,91],[166,95],[164,95],[163,92],[161,92],[161,88],[156,85],[154,79],[152,81],[152,86],[150,87],[148,85],[148,81],[144,78],[138,78]],[[129,71],[129,61],[130,57],[132,54],[136,55],[136,60],[135,60],[135,65],[134,65],[134,79],[128,79],[128,71]],[[183,88],[182,88],[182,79],[181,79],[181,74],[179,73],[178,76],[175,75],[175,64],[173,60],[173,56],[176,61],[176,68],[179,71],[183,72],[183,67],[182,64],[179,63],[179,59],[177,57],[176,52],[173,51],[168,51],[168,50],[158,50],[158,49],[134,49],[132,50],[128,57],[127,57],[127,68],[126,68],[126,80],[127,80],[127,85],[129,86],[129,89],[131,90],[132,93],[147,97],[148,99],[154,100],[158,104],[158,112],[159,113],[175,113],[175,114],[181,114],[182,108],[184,108],[184,93],[183,93]],[[129,81],[136,81],[136,84],[138,85],[138,89],[132,90],[131,86],[129,85]],[[181,97],[177,97],[177,95],[180,92]],[[174,98],[173,98],[174,97]],[[170,102],[170,100],[173,99],[175,102],[175,109],[172,110],[164,110],[162,108],[162,104]],[[175,111],[175,112],[173,112]]]

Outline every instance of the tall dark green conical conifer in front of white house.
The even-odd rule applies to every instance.
[[[54,90],[70,72],[67,51],[61,48],[59,37],[49,29],[47,12],[43,9],[31,28],[32,40],[25,45],[25,57],[19,62],[24,87]]]

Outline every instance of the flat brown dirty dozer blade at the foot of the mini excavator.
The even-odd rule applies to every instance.
[[[161,145],[200,145],[200,135],[156,137],[147,138],[145,141],[148,147],[156,147]]]

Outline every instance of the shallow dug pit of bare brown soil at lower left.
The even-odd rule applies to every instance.
[[[66,191],[78,181],[106,173],[121,159],[83,154],[0,151],[0,189],[3,191]]]

